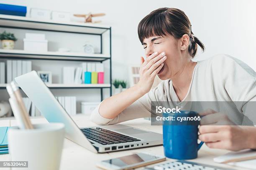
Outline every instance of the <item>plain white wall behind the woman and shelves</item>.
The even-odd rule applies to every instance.
[[[128,80],[128,65],[138,64],[143,48],[137,25],[152,10],[177,7],[192,23],[192,31],[205,44],[198,53],[203,60],[226,53],[256,70],[255,0],[0,0],[1,3],[26,5],[71,13],[106,13],[102,18],[112,26],[113,78]],[[72,40],[72,41],[75,41]],[[97,93],[98,94],[98,93]],[[90,98],[98,100],[98,96]]]

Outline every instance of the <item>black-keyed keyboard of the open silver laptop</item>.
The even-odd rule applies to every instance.
[[[87,139],[93,140],[102,145],[140,141],[137,138],[122,135],[120,133],[116,133],[99,127],[83,128],[80,130],[82,130],[82,133],[84,133]]]

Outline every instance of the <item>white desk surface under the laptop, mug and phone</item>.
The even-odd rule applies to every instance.
[[[90,122],[88,116],[85,116],[82,114],[74,116],[73,119],[77,123],[77,125],[81,128],[96,125]],[[31,119],[31,121],[33,124],[47,123],[47,120],[44,118],[33,118]],[[144,119],[130,120],[127,122],[123,122],[122,124],[132,126],[135,128],[140,128],[143,130],[150,130],[153,132],[162,133],[161,126],[151,126],[150,121],[144,120]],[[15,126],[15,125],[16,125],[15,120],[0,120],[0,126]],[[163,146],[126,150],[126,151],[119,151],[119,152],[113,152],[113,153],[96,154],[73,143],[68,139],[65,139],[64,148],[63,148],[62,157],[61,157],[60,170],[98,170],[99,168],[97,168],[95,164],[100,160],[117,158],[120,156],[129,155],[135,152],[148,152],[156,155],[164,155]],[[228,151],[226,150],[210,149],[206,145],[203,145],[199,151],[198,158],[194,160],[189,160],[189,161],[208,164],[208,165],[215,165],[215,166],[224,167],[224,168],[232,168],[236,170],[245,170],[245,168],[238,168],[230,165],[218,164],[213,162],[214,157],[218,155],[223,155],[227,152]],[[8,160],[10,160],[9,154],[0,155],[0,161],[8,161]],[[168,160],[171,160],[171,159],[168,159]],[[139,168],[139,169],[143,169],[143,168]],[[10,168],[6,168],[5,170],[10,170]]]

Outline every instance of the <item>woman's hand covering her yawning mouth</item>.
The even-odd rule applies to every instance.
[[[166,58],[165,52],[161,52],[161,54],[154,52],[146,60],[141,57],[140,80],[137,85],[143,94],[146,94],[151,89],[154,78],[164,66]]]

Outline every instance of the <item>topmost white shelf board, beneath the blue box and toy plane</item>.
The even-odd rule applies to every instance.
[[[38,20],[14,15],[0,15],[0,26],[33,30],[77,32],[97,35],[100,35],[106,30],[110,29],[110,26],[102,24]]]

